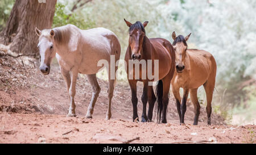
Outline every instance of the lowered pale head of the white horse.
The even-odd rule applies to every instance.
[[[55,57],[55,32],[53,30],[42,30],[35,28],[36,34],[39,36],[38,48],[41,56],[40,71],[44,75],[48,75],[50,72],[50,64],[52,58]]]

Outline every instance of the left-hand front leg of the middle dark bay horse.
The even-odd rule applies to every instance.
[[[135,119],[139,121],[139,116],[138,116],[138,98],[137,98],[137,81],[135,80],[128,80],[129,85],[131,87],[131,102],[133,103],[133,122]]]

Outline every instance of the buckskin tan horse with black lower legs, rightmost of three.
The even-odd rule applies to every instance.
[[[200,104],[197,99],[197,89],[204,86],[207,95],[207,117],[210,125],[210,114],[212,113],[212,96],[215,86],[217,65],[214,57],[207,51],[198,49],[187,49],[189,36],[177,36],[172,33],[172,44],[176,54],[176,72],[172,78],[172,93],[174,94],[180,123],[184,123],[184,115],[187,110],[186,102],[190,93],[194,106],[194,125],[198,124]],[[183,100],[180,99],[180,88],[183,88]],[[180,104],[181,103],[181,104]]]

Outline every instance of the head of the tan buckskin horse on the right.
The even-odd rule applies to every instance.
[[[185,69],[185,56],[188,49],[187,41],[189,39],[189,36],[191,33],[184,37],[182,35],[179,35],[176,37],[175,32],[172,32],[172,39],[174,39],[174,43],[172,45],[174,46],[175,54],[176,54],[176,70],[177,73],[182,73]]]

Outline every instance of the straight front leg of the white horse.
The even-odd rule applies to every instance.
[[[70,106],[67,117],[75,117],[76,116],[76,105],[75,105],[75,95],[76,95],[76,80],[78,71],[77,69],[72,69],[72,78],[71,78],[71,86],[69,87],[69,97],[70,97]]]

